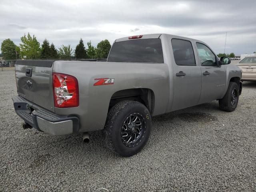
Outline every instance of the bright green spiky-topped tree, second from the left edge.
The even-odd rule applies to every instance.
[[[24,34],[24,36],[22,36],[20,40],[22,42],[20,43],[20,52],[22,56],[26,56],[26,58],[30,59],[40,58],[40,43],[36,40],[35,35],[33,35],[32,37],[29,33],[28,36]]]

